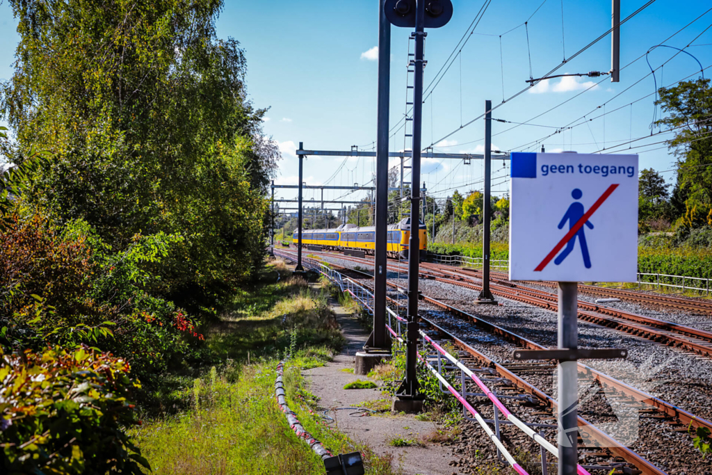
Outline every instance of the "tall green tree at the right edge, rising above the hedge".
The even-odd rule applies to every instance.
[[[685,212],[684,221],[689,224],[705,224],[712,213],[710,80],[683,81],[672,88],[660,88],[658,93],[656,104],[661,106],[666,117],[656,121],[656,125],[666,125],[674,130],[674,137],[667,141],[678,165],[674,207],[678,212]],[[694,219],[693,215],[701,216],[701,219]]]

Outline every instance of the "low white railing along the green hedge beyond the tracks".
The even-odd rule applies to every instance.
[[[447,266],[462,266],[462,267],[482,267],[483,259],[481,257],[468,256],[446,256],[444,254],[428,254],[433,262],[446,264]],[[493,259],[490,261],[490,266],[498,270],[507,271],[509,269],[509,261],[503,259]],[[697,291],[710,294],[710,279],[704,277],[691,276],[675,276],[668,273],[649,273],[639,272],[637,274],[638,286],[655,286],[657,290],[663,287],[681,288],[685,291]],[[600,285],[594,283],[593,285]],[[601,285],[603,287],[603,285]]]

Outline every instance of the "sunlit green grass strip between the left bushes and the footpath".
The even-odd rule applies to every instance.
[[[207,335],[221,365],[187,367],[166,377],[155,397],[164,406],[182,405],[131,429],[152,473],[323,474],[323,461],[296,437],[274,396],[276,366],[290,355],[288,404],[305,429],[334,454],[361,451],[367,474],[394,474],[392,456],[372,454],[313,412],[318,402],[300,371],[325,364],[343,344],[326,299],[278,266],[268,268],[258,286],[241,291],[233,311]]]

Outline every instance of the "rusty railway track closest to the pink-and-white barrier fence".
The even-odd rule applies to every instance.
[[[341,259],[340,256],[339,259]],[[347,260],[362,262],[362,259]],[[329,265],[333,268],[342,269],[343,271],[347,271],[349,273],[360,274],[362,278],[372,278],[372,275],[370,273],[364,271],[340,266],[335,263],[329,263]],[[388,282],[388,285],[389,287],[394,288],[399,294],[402,294],[404,291],[404,288],[398,286],[395,283]],[[399,301],[397,301],[396,299],[393,299],[391,297],[388,297],[388,299],[389,301],[398,306],[401,305],[401,303],[399,303]],[[422,296],[422,300],[426,301],[427,303],[430,303],[433,306],[441,308],[446,312],[449,312],[453,315],[457,315],[460,318],[464,318],[465,320],[468,320],[474,325],[476,325],[478,328],[486,330],[488,333],[491,333],[493,335],[497,335],[503,340],[507,340],[519,348],[545,348],[542,345],[538,345],[538,343],[533,342],[532,340],[528,340],[527,338],[517,335],[509,330],[506,330],[505,328],[501,328],[498,325],[494,325],[493,323],[478,318],[475,315],[471,315],[464,310],[451,306],[442,301],[438,301],[434,298],[425,295]],[[516,387],[517,390],[519,390],[520,392],[535,397],[536,400],[538,400],[538,403],[540,404],[540,410],[538,414],[542,414],[541,409],[545,409],[544,412],[548,412],[550,416],[555,414],[557,409],[556,401],[553,400],[552,397],[546,395],[545,392],[539,390],[537,387],[530,384],[530,382],[525,379],[531,371],[541,370],[543,368],[543,365],[526,363],[503,365],[499,362],[496,362],[491,357],[488,357],[487,355],[471,347],[471,345],[468,345],[457,335],[447,331],[445,328],[442,328],[441,325],[434,323],[434,321],[431,321],[428,318],[422,318],[422,322],[431,331],[436,332],[439,335],[439,338],[451,340],[459,348],[461,348],[461,350],[463,350],[469,357],[478,362],[478,364],[493,368],[493,370],[496,371],[499,377],[511,382],[511,385],[513,385],[513,387]],[[636,388],[631,387],[625,384],[624,382],[616,380],[613,377],[609,377],[608,375],[604,375],[603,373],[593,370],[592,368],[587,367],[586,365],[582,365],[581,363],[579,363],[579,372],[580,375],[592,377],[597,382],[600,382],[601,385],[607,387],[608,395],[627,397],[632,403],[640,403],[643,404],[645,407],[654,409],[658,414],[660,414],[659,417],[661,421],[666,422],[666,424],[669,426],[669,429],[675,432],[685,432],[688,426],[706,427],[712,430],[712,422],[709,422],[706,419],[696,417],[694,414],[691,414],[690,412],[687,412],[684,409],[674,406],[674,404],[669,404],[668,402],[659,400],[659,398],[649,395],[648,393],[643,392],[641,390],[637,390]],[[619,444],[607,434],[600,431],[600,429],[597,429],[597,427],[587,422],[585,419],[579,417],[578,424],[581,427],[580,432],[582,432],[581,442],[584,444],[584,446],[582,447],[582,457],[585,460],[595,460],[596,464],[601,464],[601,459],[607,458],[613,461],[622,459],[627,462],[627,465],[625,467],[619,467],[619,469],[622,471],[615,472],[619,474],[665,474],[664,471],[659,469],[650,461],[640,456],[632,449],[629,449],[628,447],[624,447],[624,445]],[[602,447],[605,448],[602,449]],[[614,467],[615,464],[611,466]]]

